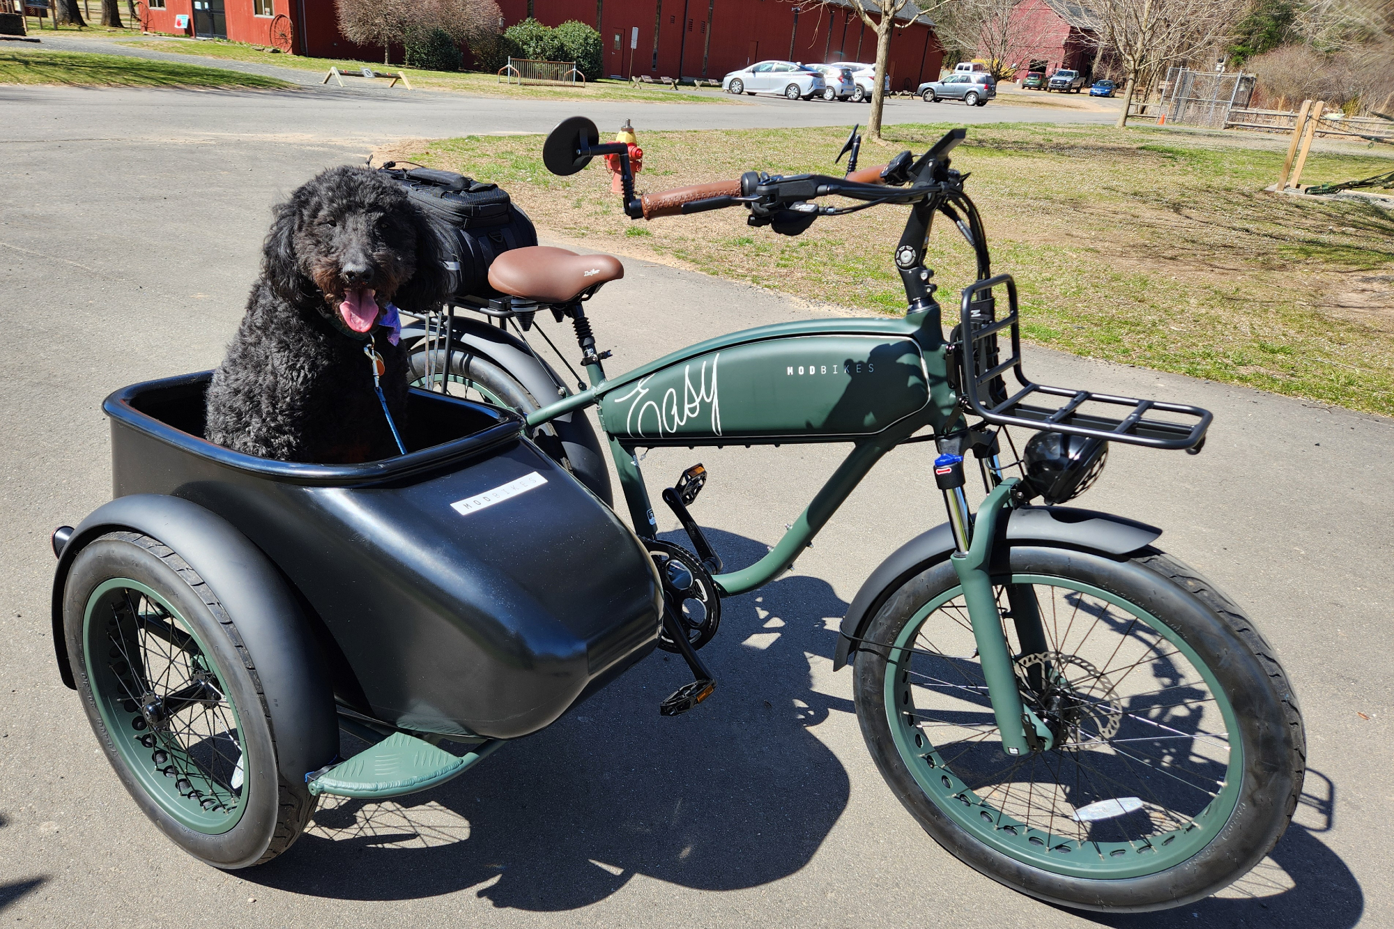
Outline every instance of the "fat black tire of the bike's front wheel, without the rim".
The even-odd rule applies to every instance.
[[[1073,579],[1108,590],[1157,617],[1209,665],[1234,706],[1243,748],[1238,802],[1216,837],[1185,861],[1136,877],[1059,875],[998,852],[960,829],[919,787],[887,721],[889,650],[916,611],[958,586],[947,561],[888,587],[855,656],[857,718],[867,748],[896,798],[924,830],[976,870],[1033,897],[1082,909],[1143,912],[1204,898],[1273,851],[1292,819],[1306,771],[1302,714],[1273,647],[1232,600],[1195,569],[1156,548],[1108,558],[1050,545],[1013,545],[1012,573]]]

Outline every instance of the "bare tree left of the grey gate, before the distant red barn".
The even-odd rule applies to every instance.
[[[1093,42],[1124,75],[1124,109],[1114,126],[1128,126],[1140,77],[1216,45],[1242,6],[1242,0],[1090,0],[1097,20]]]

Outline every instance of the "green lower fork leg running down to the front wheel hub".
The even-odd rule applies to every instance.
[[[993,579],[987,573],[993,559],[997,520],[1002,511],[1011,506],[1012,488],[1018,480],[1008,478],[987,495],[977,509],[969,550],[949,555],[949,564],[953,565],[963,587],[963,603],[967,605],[973,639],[977,643],[977,660],[983,665],[987,695],[993,700],[993,714],[1002,735],[1002,750],[1012,756],[1050,750],[1055,742],[1050,727],[1022,703],[1012,656],[1002,635],[1002,617],[993,597]]]

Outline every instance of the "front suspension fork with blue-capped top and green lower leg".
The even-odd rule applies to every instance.
[[[1011,756],[1023,756],[1050,749],[1054,743],[1050,727],[1022,703],[1016,670],[1002,630],[1002,615],[997,610],[993,579],[988,575],[997,523],[1002,512],[1012,506],[1012,488],[1018,484],[1018,478],[1009,477],[994,487],[983,499],[976,516],[969,512],[967,499],[963,497],[960,455],[940,455],[934,460],[934,478],[944,491],[955,548],[949,555],[949,564],[953,565],[959,586],[963,589],[963,603],[973,626],[973,640],[977,644],[977,660],[983,667],[987,696],[993,702],[993,714],[1002,737],[1002,750]],[[1026,593],[1032,597],[1030,587]],[[1032,603],[1034,604],[1034,598]],[[1015,608],[1012,612],[1013,619],[1019,621]],[[1037,626],[1039,622],[1037,617]]]

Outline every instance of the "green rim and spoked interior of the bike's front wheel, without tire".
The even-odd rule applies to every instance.
[[[999,584],[999,579],[994,583]],[[983,844],[1057,875],[1101,880],[1139,877],[1196,855],[1230,820],[1243,777],[1243,750],[1234,737],[1239,731],[1238,717],[1214,674],[1175,630],[1115,594],[1040,575],[1013,575],[1011,583],[1036,586],[1033,591],[1047,639],[1064,646],[1048,653],[1054,658],[1050,664],[1016,656],[1023,700],[1029,704],[1034,700],[1026,695],[1023,668],[1037,663],[1034,667],[1052,668],[1050,674],[1061,682],[1059,693],[1068,695],[1057,696],[1057,702],[1068,699],[1076,707],[1075,718],[1083,721],[1066,731],[1062,748],[1022,759],[1002,753],[999,743],[991,741],[997,728],[991,723],[980,670],[973,683],[976,651],[962,608],[962,590],[953,587],[921,607],[905,625],[891,649],[885,672],[891,734],[916,783],[944,815]],[[1064,593],[1052,597],[1050,607],[1073,601],[1069,625],[1058,610],[1040,603],[1040,587]],[[997,591],[1005,612],[1004,587],[998,586]],[[941,651],[921,636],[926,621],[941,608],[942,615],[952,619],[953,628],[944,628],[948,640],[959,644],[956,651]],[[1087,642],[1100,625],[1107,629],[1125,624],[1125,632],[1115,636],[1118,649],[1110,664],[1089,663],[1071,653],[1078,635],[1075,624],[1082,632],[1087,629],[1080,642]],[[1004,621],[1004,633],[1006,628]],[[931,647],[926,647],[927,642]],[[1011,635],[1008,643],[1015,653]],[[1125,646],[1132,647],[1122,656],[1124,664],[1112,665]],[[919,670],[916,658],[921,658]],[[1178,658],[1185,658],[1189,668],[1182,670]],[[944,677],[924,672],[924,668],[941,667],[956,670],[960,677],[951,679],[942,671]],[[1163,679],[1170,677],[1175,683],[1151,688],[1146,683],[1149,671]],[[1139,672],[1142,679],[1136,679]],[[1125,685],[1132,697],[1119,693]],[[1209,689],[1209,697],[1199,696],[1202,685]],[[1160,696],[1165,693],[1171,696]],[[1164,703],[1177,696],[1185,697],[1184,702]],[[955,709],[930,711],[920,709],[920,702]],[[1214,717],[1223,720],[1224,734],[1196,725],[1197,720],[1204,720],[1204,725],[1211,723],[1210,707]],[[1168,710],[1178,711],[1168,717]],[[1175,717],[1188,720],[1192,731],[1172,725]],[[1105,725],[1098,725],[1100,721]],[[972,727],[977,735],[952,738]],[[1114,732],[1105,738],[1108,727],[1114,727]],[[1182,752],[1188,766],[1163,763]],[[984,771],[994,763],[994,755],[999,769]],[[1043,776],[1040,784],[1039,773]],[[1044,781],[1051,777],[1054,788],[1047,792]],[[1061,784],[1069,777],[1072,783]],[[1129,809],[1133,801],[1140,801],[1140,806]],[[1118,815],[1125,809],[1126,813]],[[1104,816],[1092,819],[1100,813]]]

